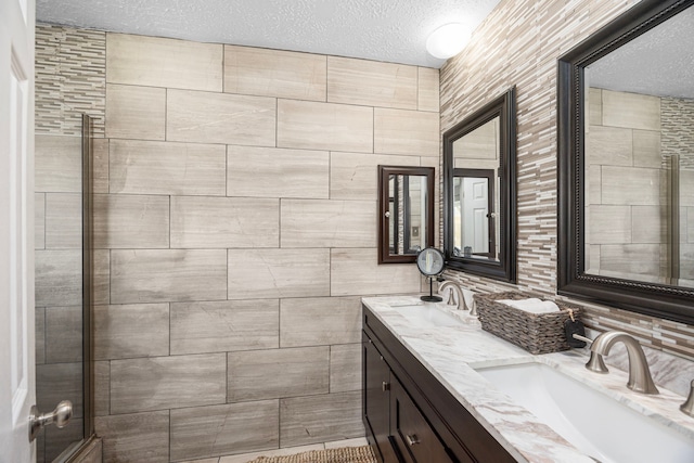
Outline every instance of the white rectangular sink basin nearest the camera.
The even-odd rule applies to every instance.
[[[694,440],[543,363],[476,371],[600,462],[694,462]]]

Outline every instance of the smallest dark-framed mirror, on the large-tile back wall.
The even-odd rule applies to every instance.
[[[378,166],[378,263],[416,261],[434,245],[433,167]]]

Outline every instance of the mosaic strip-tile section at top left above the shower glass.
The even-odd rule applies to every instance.
[[[106,34],[36,26],[36,133],[81,134],[81,114],[104,137]]]

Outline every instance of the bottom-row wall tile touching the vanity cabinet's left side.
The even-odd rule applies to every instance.
[[[280,400],[280,445],[362,437],[361,391]]]

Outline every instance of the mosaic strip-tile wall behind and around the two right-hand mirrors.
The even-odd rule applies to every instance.
[[[447,278],[477,291],[556,296],[556,60],[634,3],[504,0],[441,68],[441,132],[514,85],[518,118],[518,284],[451,271]],[[586,307],[590,327],[624,330],[645,345],[694,360],[693,326],[573,303]]]

